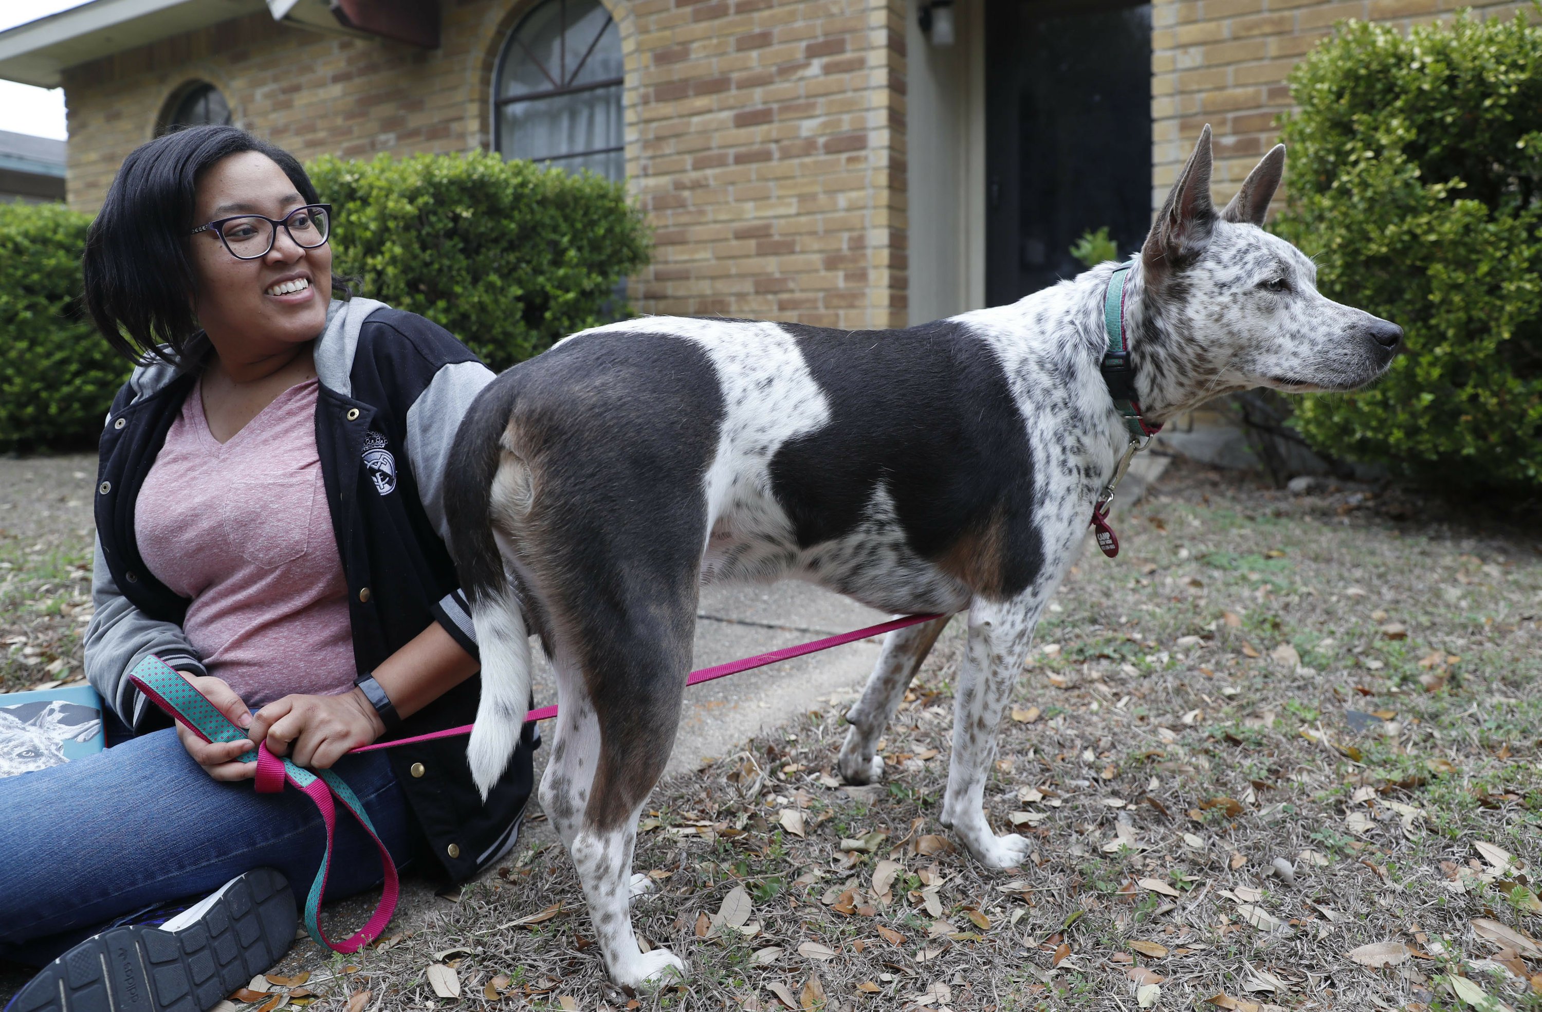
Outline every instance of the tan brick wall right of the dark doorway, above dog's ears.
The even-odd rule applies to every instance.
[[[1215,196],[1227,201],[1278,137],[1291,108],[1284,83],[1295,62],[1332,34],[1334,22],[1402,26],[1471,6],[1513,17],[1523,3],[1493,0],[1153,0],[1152,207],[1160,208],[1204,123],[1215,131]],[[1286,164],[1289,185],[1289,162]]]

